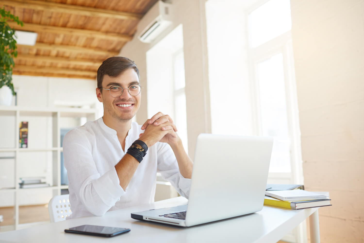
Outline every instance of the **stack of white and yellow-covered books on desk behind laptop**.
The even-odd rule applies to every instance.
[[[264,204],[290,209],[331,206],[328,192],[308,192],[302,189],[266,191]]]

